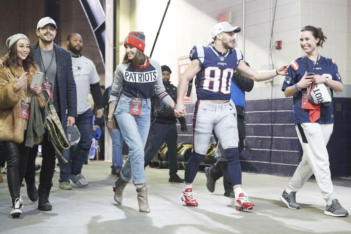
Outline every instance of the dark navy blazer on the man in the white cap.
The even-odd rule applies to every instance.
[[[41,68],[39,42],[31,45],[34,61]],[[77,88],[72,71],[72,56],[69,51],[54,43],[57,66],[57,91],[59,92],[60,120],[65,125],[65,115],[77,118]]]

